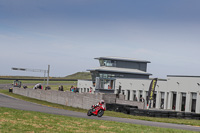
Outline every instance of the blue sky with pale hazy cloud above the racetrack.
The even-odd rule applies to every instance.
[[[95,57],[148,60],[151,77],[200,76],[199,0],[0,0],[0,75],[64,77]]]

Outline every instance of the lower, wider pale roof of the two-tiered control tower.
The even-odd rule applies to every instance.
[[[98,67],[88,69],[87,71],[107,71],[107,72],[118,72],[118,73],[131,73],[131,74],[141,74],[141,75],[152,75],[150,73],[138,70],[138,69],[128,69],[128,68],[118,68],[118,67]]]

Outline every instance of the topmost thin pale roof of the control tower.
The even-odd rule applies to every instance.
[[[109,59],[109,60],[121,60],[121,61],[131,61],[131,62],[144,62],[144,63],[151,63],[150,61],[146,61],[146,60],[138,60],[138,59],[134,59],[134,58],[124,58],[124,57],[112,57],[112,56],[108,56],[108,57],[97,57],[94,59]]]

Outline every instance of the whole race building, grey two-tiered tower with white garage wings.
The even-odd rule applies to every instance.
[[[80,93],[102,92],[125,96],[125,100],[147,104],[152,79],[150,61],[121,57],[99,57],[100,67],[88,69],[92,80],[78,80]],[[146,106],[145,106],[146,107]],[[200,76],[167,75],[158,79],[151,108],[200,113]]]

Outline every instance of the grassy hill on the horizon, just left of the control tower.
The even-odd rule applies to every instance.
[[[77,72],[65,77],[66,79],[92,79],[90,72]]]

